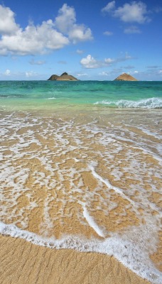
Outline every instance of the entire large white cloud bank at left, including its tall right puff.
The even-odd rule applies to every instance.
[[[58,50],[70,43],[91,40],[92,32],[84,24],[76,23],[75,9],[67,4],[58,11],[55,21],[41,25],[29,23],[21,28],[11,9],[0,5],[0,55],[36,55]]]

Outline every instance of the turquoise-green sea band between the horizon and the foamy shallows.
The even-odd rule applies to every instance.
[[[1,107],[105,106],[161,108],[162,82],[1,81]]]

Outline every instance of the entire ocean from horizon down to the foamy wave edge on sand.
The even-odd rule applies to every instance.
[[[0,81],[0,233],[161,265],[162,82]]]

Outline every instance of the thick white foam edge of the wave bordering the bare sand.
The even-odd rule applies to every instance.
[[[87,212],[85,212],[85,215],[87,216]],[[91,223],[92,220],[89,220]],[[142,278],[146,278],[153,284],[161,284],[162,273],[153,266],[148,255],[148,246],[149,251],[151,248],[152,253],[156,246],[156,241],[152,237],[156,230],[156,227],[148,224],[142,225],[139,228],[132,227],[131,231],[128,230],[120,236],[112,234],[112,236],[104,239],[104,241],[99,241],[98,239],[80,239],[77,236],[64,236],[62,239],[55,239],[43,238],[29,231],[18,229],[15,225],[0,222],[0,234],[4,236],[25,239],[32,244],[46,246],[50,249],[75,249],[82,252],[90,251],[114,256],[124,266]],[[139,244],[134,243],[134,235],[138,235],[140,239]]]

